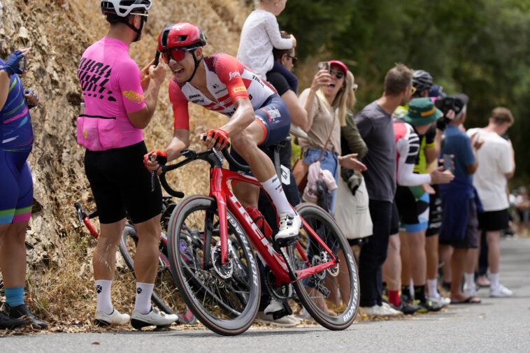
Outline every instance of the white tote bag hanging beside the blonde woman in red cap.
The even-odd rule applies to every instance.
[[[366,182],[361,182],[355,195],[343,178],[338,178],[338,189],[335,201],[335,220],[347,239],[358,239],[371,236],[372,219],[368,209],[368,191]]]

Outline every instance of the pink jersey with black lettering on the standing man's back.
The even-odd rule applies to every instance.
[[[115,38],[101,38],[83,53],[78,76],[85,115],[115,118],[122,135],[117,147],[143,141],[142,130],[134,127],[127,117],[127,113],[145,106],[140,69],[129,57],[129,46]]]

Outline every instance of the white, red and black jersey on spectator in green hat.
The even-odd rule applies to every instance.
[[[420,138],[414,128],[402,118],[394,119],[396,136],[396,180],[401,186],[416,186],[431,182],[430,174],[414,173],[416,157],[420,152]]]

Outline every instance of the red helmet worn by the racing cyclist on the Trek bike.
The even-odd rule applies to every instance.
[[[158,51],[192,49],[206,45],[206,36],[199,27],[189,22],[170,24],[158,37]]]

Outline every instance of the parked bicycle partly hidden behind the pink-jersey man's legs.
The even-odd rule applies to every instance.
[[[90,222],[90,219],[98,217],[98,212],[95,210],[92,213],[86,212],[80,203],[74,203],[78,213],[78,219],[81,224],[85,224],[89,232],[94,238],[99,237],[94,226]],[[167,258],[167,238],[164,230],[167,229],[167,224],[171,216],[173,208],[176,203],[172,200],[171,196],[163,197],[162,204],[162,217],[160,222],[162,224],[162,234],[160,235],[159,245],[159,266],[157,270],[157,277],[155,278],[155,287],[152,292],[151,299],[157,305],[157,307],[169,314],[176,314],[178,316],[178,322],[180,324],[195,324],[196,318],[193,313],[186,307],[184,301],[178,294],[176,287],[176,280],[173,278],[173,274],[170,271],[170,262]],[[136,254],[136,245],[138,244],[138,234],[130,219],[122,231],[122,237],[120,238],[120,254],[127,264],[129,270],[134,274],[134,255]]]

